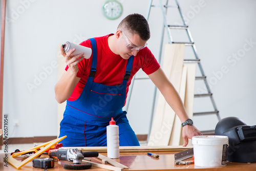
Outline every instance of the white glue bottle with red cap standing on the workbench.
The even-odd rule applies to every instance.
[[[113,118],[110,125],[106,126],[106,146],[109,158],[119,158],[119,127]]]

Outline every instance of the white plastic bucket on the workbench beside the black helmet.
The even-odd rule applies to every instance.
[[[219,167],[227,164],[227,136],[194,136],[195,166]]]

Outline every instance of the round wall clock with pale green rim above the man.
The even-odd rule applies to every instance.
[[[109,19],[116,19],[122,14],[122,5],[115,1],[115,0],[110,0],[105,2],[105,4],[102,7],[103,14],[105,17]]]

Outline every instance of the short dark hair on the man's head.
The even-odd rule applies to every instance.
[[[145,17],[141,14],[135,13],[126,16],[118,25],[117,29],[138,34],[142,40],[150,39],[150,27]]]

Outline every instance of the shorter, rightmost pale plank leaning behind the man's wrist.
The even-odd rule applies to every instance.
[[[193,108],[194,108],[194,94],[195,94],[195,81],[196,81],[196,63],[186,63],[187,66],[187,81],[186,81],[186,93],[184,106],[187,112],[187,115],[190,119],[193,119]],[[182,133],[181,133],[182,135]],[[184,144],[184,140],[181,136],[180,144]],[[188,145],[191,144],[191,140],[188,140]]]

